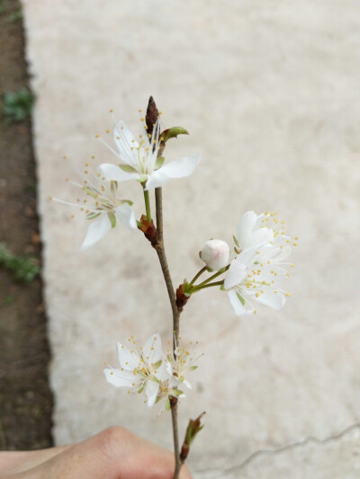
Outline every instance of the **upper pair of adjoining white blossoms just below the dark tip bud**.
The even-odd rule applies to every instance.
[[[144,119],[141,119],[144,120]],[[119,121],[113,129],[113,140],[117,151],[107,145],[121,164],[100,164],[96,171],[85,163],[80,173],[82,182],[71,182],[85,192],[85,199],[76,202],[54,199],[58,202],[80,208],[85,211],[86,219],[95,220],[88,226],[82,250],[100,241],[106,233],[116,226],[116,219],[130,230],[137,229],[137,222],[131,208],[132,201],[122,200],[118,196],[120,182],[136,180],[145,191],[163,186],[170,178],[184,178],[193,173],[200,161],[200,155],[188,155],[164,164],[164,156],[159,155],[164,145],[164,136],[160,133],[160,120],[153,126],[152,134],[147,133],[143,123],[143,133],[139,141],[130,132],[124,121]],[[183,130],[182,130],[183,131]],[[184,130],[185,131],[185,130]],[[109,133],[110,130],[107,130]],[[68,179],[67,179],[68,181]]]

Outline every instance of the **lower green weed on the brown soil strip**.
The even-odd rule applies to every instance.
[[[15,279],[26,284],[30,284],[40,272],[40,267],[35,258],[17,256],[11,253],[4,243],[0,243],[0,264],[7,270],[12,271]]]

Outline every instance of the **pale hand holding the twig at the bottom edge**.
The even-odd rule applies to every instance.
[[[174,454],[112,427],[78,444],[0,453],[3,479],[173,479]],[[186,466],[180,479],[192,479]]]

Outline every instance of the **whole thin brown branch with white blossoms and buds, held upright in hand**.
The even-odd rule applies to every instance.
[[[148,407],[162,404],[161,411],[171,411],[174,479],[178,479],[191,443],[202,430],[203,415],[189,421],[180,451],[178,398],[184,397],[183,386],[191,389],[186,375],[197,368],[194,361],[199,358],[193,357],[192,349],[187,350],[179,344],[180,315],[184,305],[193,293],[204,288],[220,287],[221,291],[227,292],[236,315],[256,314],[257,304],[281,309],[285,298],[290,296],[283,287],[284,280],[290,276],[286,267],[293,267],[293,263],[287,262],[287,259],[292,245],[297,245],[298,238],[295,236],[293,242],[290,236],[285,235],[284,221],[279,221],[275,212],[265,211],[257,215],[254,211],[247,211],[240,217],[236,235],[233,236],[236,257],[230,260],[229,244],[225,241],[215,238],[208,240],[199,253],[205,266],[190,282],[184,279],[175,290],[164,244],[162,186],[172,178],[184,178],[192,174],[200,155],[183,156],[164,164],[163,152],[167,140],[188,133],[181,127],[161,131],[160,114],[154,99],[150,97],[146,117],[141,118],[143,132],[139,139],[132,135],[123,120],[118,121],[113,129],[113,141],[118,152],[102,138],[100,140],[121,160],[121,164],[101,164],[93,170],[90,164],[85,163],[84,171],[78,171],[82,182],[72,182],[85,198],[77,198],[76,202],[58,201],[84,211],[86,219],[91,222],[81,249],[96,244],[121,222],[122,226],[132,231],[137,228],[142,231],[157,252],[172,310],[173,350],[167,354],[163,352],[158,333],[148,338],[140,350],[137,350],[136,341],[131,336],[126,345],[121,342],[117,344],[120,368],[112,368],[105,363],[103,373],[112,386],[126,387],[128,393],[144,392]],[[121,182],[128,181],[138,182],[143,189],[145,214],[139,221],[131,208],[132,202],[123,199],[118,192]],[[156,225],[151,217],[149,190],[155,190]],[[210,276],[203,279],[202,274],[206,271]],[[222,274],[224,277],[220,279]],[[196,281],[199,281],[198,284],[195,284]]]

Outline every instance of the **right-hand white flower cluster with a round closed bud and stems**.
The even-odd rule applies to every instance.
[[[295,238],[296,240],[297,238]],[[290,276],[286,262],[296,243],[285,235],[284,221],[276,213],[266,211],[257,215],[247,211],[238,221],[234,235],[234,251],[237,257],[229,261],[229,245],[219,239],[206,242],[200,257],[208,271],[217,271],[209,279],[194,284],[202,271],[190,283],[184,283],[185,295],[191,295],[202,288],[220,285],[228,292],[229,301],[236,315],[257,313],[254,303],[261,303],[274,309],[281,309],[285,297],[290,296],[283,288],[284,279]],[[225,279],[211,283],[224,271]],[[186,297],[182,297],[186,301]]]

